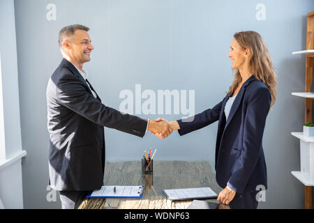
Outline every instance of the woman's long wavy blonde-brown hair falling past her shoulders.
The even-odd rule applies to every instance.
[[[242,31],[234,34],[234,39],[244,49],[249,49],[251,52],[251,59],[248,63],[249,71],[253,73],[256,79],[263,82],[271,92],[271,107],[276,101],[277,93],[277,77],[273,68],[273,62],[269,55],[268,49],[262,36],[255,31]],[[234,80],[227,93],[234,93],[242,78],[239,70],[237,70]]]

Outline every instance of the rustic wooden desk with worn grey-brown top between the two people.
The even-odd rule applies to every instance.
[[[209,162],[158,161],[154,160],[154,173],[142,174],[141,161],[106,162],[105,185],[144,185],[141,199],[92,199],[82,201],[79,209],[127,208],[127,209],[184,209],[192,200],[170,201],[162,190],[211,187],[216,194],[222,190]],[[205,199],[219,203],[217,199]],[[219,208],[229,208],[220,204]]]

